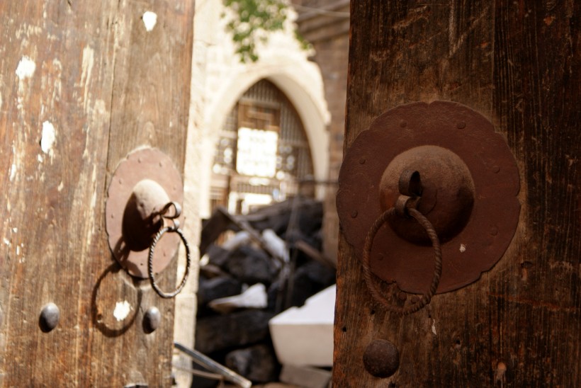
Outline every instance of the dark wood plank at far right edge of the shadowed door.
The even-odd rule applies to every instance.
[[[497,383],[581,384],[580,6],[497,1],[495,126],[519,162],[521,235],[492,278]],[[506,259],[505,259],[506,260]]]

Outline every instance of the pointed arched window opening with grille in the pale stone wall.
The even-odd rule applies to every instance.
[[[215,149],[210,192],[235,214],[301,195],[312,196],[312,156],[303,123],[288,98],[263,79],[230,111]]]

